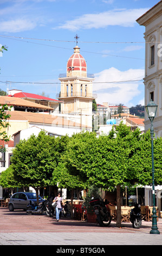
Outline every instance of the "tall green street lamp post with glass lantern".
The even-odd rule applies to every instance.
[[[153,200],[153,210],[152,210],[152,228],[150,234],[160,234],[158,227],[157,227],[157,211],[155,209],[155,190],[154,190],[154,157],[153,157],[153,138],[154,138],[154,131],[153,131],[153,119],[157,113],[158,106],[151,100],[147,106],[145,106],[148,118],[151,121],[151,155],[152,155],[152,200]]]

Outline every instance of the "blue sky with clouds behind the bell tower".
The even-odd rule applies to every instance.
[[[157,3],[1,0],[0,44],[8,51],[0,56],[0,88],[56,99],[77,34],[87,73],[95,75],[96,102],[144,105],[145,27],[135,20]]]

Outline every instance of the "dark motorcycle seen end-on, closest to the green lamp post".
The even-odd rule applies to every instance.
[[[140,228],[142,224],[140,204],[135,204],[130,212],[130,218],[133,228]]]

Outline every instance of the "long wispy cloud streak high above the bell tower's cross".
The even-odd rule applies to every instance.
[[[148,8],[140,9],[114,9],[96,14],[84,14],[74,20],[66,21],[54,29],[79,29],[106,28],[107,26],[133,27],[136,19],[144,14]]]

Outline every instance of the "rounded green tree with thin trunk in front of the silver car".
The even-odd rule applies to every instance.
[[[51,177],[57,166],[59,153],[56,139],[41,131],[36,137],[31,135],[20,141],[13,150],[12,168],[16,181],[23,186],[35,189],[38,203],[38,190],[51,184]]]

